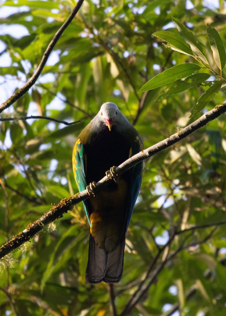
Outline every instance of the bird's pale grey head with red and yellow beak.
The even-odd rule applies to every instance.
[[[123,114],[113,102],[104,103],[98,112],[99,119],[111,130],[112,125],[120,124]]]

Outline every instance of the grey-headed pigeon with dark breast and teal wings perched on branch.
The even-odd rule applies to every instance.
[[[83,201],[90,224],[86,281],[118,283],[122,277],[126,231],[144,176],[142,161],[122,173],[116,166],[144,149],[136,129],[113,102],[104,103],[80,132],[73,148],[73,171],[79,191],[88,190]],[[95,183],[105,175],[113,178],[95,194]]]

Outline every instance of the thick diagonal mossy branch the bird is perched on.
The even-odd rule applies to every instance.
[[[129,168],[134,167],[140,161],[143,161],[160,151],[169,148],[173,144],[179,142],[181,139],[187,137],[188,135],[192,134],[194,131],[197,131],[199,128],[205,126],[208,122],[216,119],[221,114],[226,112],[226,101],[223,102],[222,105],[216,106],[209,112],[206,112],[202,115],[199,119],[191,123],[190,125],[186,126],[185,128],[181,129],[180,132],[171,135],[170,137],[164,139],[163,141],[159,142],[156,145],[149,147],[141,151],[140,153],[132,156],[128,160],[124,161],[120,166],[116,168],[116,173],[121,175]],[[102,190],[103,187],[106,185],[106,181],[111,181],[105,176],[96,184],[96,190]],[[42,228],[53,222],[57,218],[63,216],[64,213],[67,213],[69,210],[72,210],[73,207],[81,201],[86,200],[89,198],[89,194],[87,190],[84,190],[80,193],[75,194],[72,197],[68,197],[63,199],[59,204],[51,208],[48,213],[45,213],[39,220],[35,221],[33,224],[29,224],[27,228],[24,229],[23,232],[19,233],[15,237],[13,237],[9,242],[5,245],[0,247],[0,258],[3,258],[6,254],[11,252],[12,250],[18,248],[24,242],[30,240],[35,234],[37,234]]]

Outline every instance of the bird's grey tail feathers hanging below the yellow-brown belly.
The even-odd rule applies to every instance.
[[[86,281],[91,284],[118,283],[122,277],[124,248],[125,236],[112,252],[107,253],[99,248],[90,234]]]

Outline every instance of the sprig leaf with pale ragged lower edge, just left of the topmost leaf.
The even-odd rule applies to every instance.
[[[171,49],[176,49],[178,52],[194,56],[190,46],[185,42],[181,35],[169,31],[155,32],[152,35],[158,37],[159,39],[165,40],[170,44],[169,47]]]

